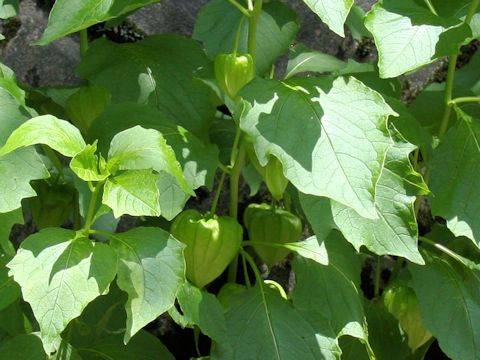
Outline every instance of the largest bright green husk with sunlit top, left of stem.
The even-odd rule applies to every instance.
[[[186,275],[199,288],[223,273],[243,239],[243,229],[234,218],[203,216],[193,209],[175,218],[171,233],[187,245],[184,251]]]

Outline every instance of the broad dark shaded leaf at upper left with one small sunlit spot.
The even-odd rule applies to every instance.
[[[151,105],[196,135],[206,135],[215,114],[210,90],[192,79],[213,77],[212,64],[196,41],[178,35],[134,44],[97,40],[77,72],[110,91],[113,103]]]

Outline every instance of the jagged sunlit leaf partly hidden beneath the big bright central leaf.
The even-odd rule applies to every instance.
[[[428,188],[410,164],[408,156],[413,150],[414,146],[398,140],[388,150],[376,187],[377,219],[361,217],[335,201],[301,195],[302,207],[313,228],[318,229],[318,236],[327,231],[324,229],[335,227],[357,250],[366,246],[379,255],[403,256],[423,264],[417,249],[418,228],[413,204],[416,195],[427,194]]]

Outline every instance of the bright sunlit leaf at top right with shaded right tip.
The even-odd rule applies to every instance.
[[[402,75],[458,50],[471,35],[455,18],[441,18],[415,0],[381,0],[365,18],[379,52],[382,78]]]

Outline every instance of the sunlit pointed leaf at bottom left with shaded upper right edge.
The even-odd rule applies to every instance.
[[[29,236],[7,265],[40,325],[47,353],[89,302],[108,291],[117,258],[105,244],[50,228]]]

